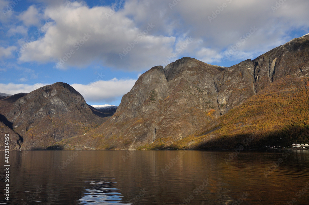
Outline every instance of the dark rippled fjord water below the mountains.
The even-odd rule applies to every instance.
[[[308,204],[309,151],[232,153],[11,151],[6,201],[0,152],[0,204]]]

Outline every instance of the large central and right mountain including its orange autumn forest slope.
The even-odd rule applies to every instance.
[[[254,143],[267,144],[265,139],[272,138],[273,133],[297,130],[295,124],[289,127],[287,121],[280,121],[281,124],[276,121],[275,113],[283,108],[280,103],[288,102],[285,94],[292,101],[299,99],[299,92],[307,95],[308,57],[309,35],[305,35],[229,68],[189,57],[164,69],[155,66],[142,74],[122,97],[111,118],[83,136],[87,139],[85,146],[93,149],[231,149],[243,137],[251,135],[256,136]],[[302,111],[307,113],[308,102],[301,103]],[[271,117],[261,107],[270,109]],[[288,119],[296,116],[303,123],[299,125],[303,126],[302,132],[295,133],[307,133],[307,114],[300,116],[298,109],[287,105],[283,113]],[[231,123],[240,127],[239,132],[232,134],[230,119],[235,119]],[[261,127],[275,121],[277,124],[267,129]],[[263,130],[263,134],[257,134],[257,130]],[[219,132],[221,134],[217,134]],[[287,136],[289,141],[298,137]],[[233,143],[228,144],[231,141]]]

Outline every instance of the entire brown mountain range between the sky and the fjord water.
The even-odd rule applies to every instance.
[[[305,35],[228,68],[190,57],[155,66],[115,113],[63,82],[2,94],[0,134],[12,150],[287,147],[309,142],[308,89]]]

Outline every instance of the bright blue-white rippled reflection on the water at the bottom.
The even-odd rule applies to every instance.
[[[78,199],[78,204],[105,204],[105,205],[130,205],[133,203],[121,202],[121,191],[115,187],[115,179],[100,177],[88,178],[83,197]]]

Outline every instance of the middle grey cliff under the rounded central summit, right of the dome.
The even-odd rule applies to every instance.
[[[169,89],[158,124],[159,139],[183,139],[220,116],[214,78],[224,69],[188,57],[164,68]]]

